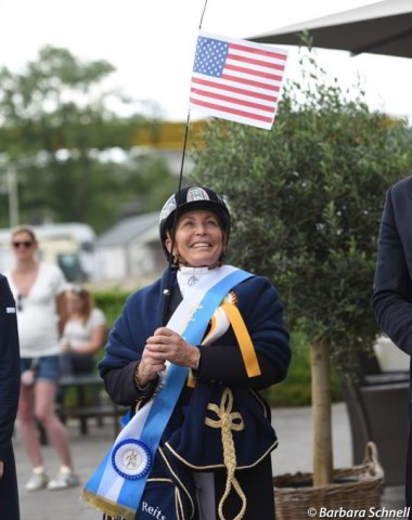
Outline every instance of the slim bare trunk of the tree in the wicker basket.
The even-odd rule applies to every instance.
[[[310,348],[312,373],[313,486],[332,482],[332,407],[329,348],[323,341]]]

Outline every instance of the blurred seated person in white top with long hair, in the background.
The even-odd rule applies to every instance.
[[[68,286],[65,300],[67,321],[61,339],[61,373],[91,374],[94,354],[106,339],[106,318],[103,311],[93,307],[91,295],[83,287]]]

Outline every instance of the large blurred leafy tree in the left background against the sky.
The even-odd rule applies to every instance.
[[[121,118],[108,108],[126,103],[103,90],[113,72],[105,61],[82,62],[52,47],[41,49],[23,72],[0,69],[2,171],[10,164],[17,168],[21,220],[82,221],[99,231],[137,194],[145,202],[153,191],[145,176],[154,162],[150,167],[147,158],[140,176],[139,165],[127,160],[136,129],[150,121]],[[159,177],[170,178],[165,165]]]

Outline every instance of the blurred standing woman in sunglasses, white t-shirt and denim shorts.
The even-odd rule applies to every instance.
[[[17,418],[24,446],[33,464],[27,491],[61,490],[78,485],[73,471],[65,426],[54,411],[61,346],[65,323],[65,280],[56,265],[39,262],[34,231],[22,226],[12,233],[15,265],[7,276],[17,309],[22,385]],[[36,420],[44,428],[57,452],[61,468],[49,481]]]

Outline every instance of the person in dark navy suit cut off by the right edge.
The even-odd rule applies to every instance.
[[[412,355],[412,177],[399,181],[386,194],[373,288],[377,323],[397,347]],[[409,407],[405,495],[407,505],[412,506],[411,399]]]

